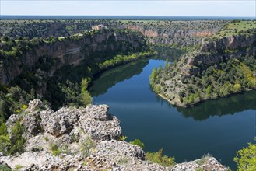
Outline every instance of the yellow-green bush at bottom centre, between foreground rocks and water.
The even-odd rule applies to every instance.
[[[163,149],[160,149],[158,152],[147,152],[146,160],[156,162],[162,166],[174,166],[174,157],[168,157],[163,155]]]

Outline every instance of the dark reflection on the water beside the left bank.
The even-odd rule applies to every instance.
[[[100,96],[107,92],[107,89],[114,86],[118,82],[130,79],[134,75],[139,75],[143,68],[149,64],[149,59],[132,61],[126,65],[121,65],[110,69],[107,72],[96,76],[93,86],[89,89],[92,96]]]

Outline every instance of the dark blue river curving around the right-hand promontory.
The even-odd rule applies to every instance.
[[[163,60],[147,59],[103,72],[90,89],[93,103],[109,105],[121,120],[126,141],[139,138],[145,151],[163,148],[176,162],[209,153],[235,169],[236,151],[254,142],[256,91],[182,109],[151,91],[149,75],[160,65]]]

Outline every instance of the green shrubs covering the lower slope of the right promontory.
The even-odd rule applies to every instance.
[[[179,99],[184,106],[191,106],[204,99],[217,99],[232,93],[255,89],[255,68],[256,58],[246,56],[227,58],[219,65],[201,68],[196,75],[191,75],[190,78],[181,75],[181,82],[185,85],[185,89],[177,92]],[[167,90],[163,91],[163,89],[167,85],[164,82],[172,79],[177,70],[178,68],[175,68],[174,65],[168,68],[154,69],[150,77],[150,84],[153,85],[154,91],[166,96]],[[171,86],[182,87],[181,84],[177,84],[177,80],[174,80],[173,84]],[[175,91],[175,89],[170,88],[168,90]]]

